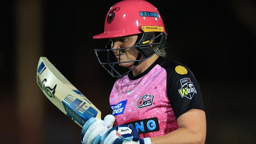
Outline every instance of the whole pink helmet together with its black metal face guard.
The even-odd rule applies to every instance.
[[[145,0],[123,0],[112,6],[105,18],[104,32],[95,35],[93,39],[105,39],[122,37],[127,35],[142,34],[134,46],[126,48],[111,48],[111,39],[103,49],[95,50],[95,55],[105,70],[113,77],[121,77],[137,67],[140,63],[152,57],[158,49],[163,47],[165,37],[165,27],[159,11],[152,4]],[[153,41],[153,42],[152,42]],[[152,45],[158,44],[156,49]],[[113,51],[119,53],[121,50],[134,48],[139,53],[137,59],[132,61],[120,61]],[[141,57],[143,57],[141,59]],[[121,63],[133,64],[129,70],[123,72],[120,69]],[[133,67],[132,67],[133,66]]]

